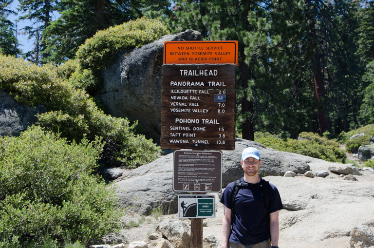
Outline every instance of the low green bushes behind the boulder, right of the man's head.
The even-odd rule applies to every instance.
[[[266,147],[277,151],[288,153],[298,153],[310,157],[320,158],[329,162],[343,162],[347,155],[340,150],[339,143],[328,140],[325,137],[319,137],[318,134],[301,133],[296,139],[281,139],[277,135],[256,132],[255,141]]]

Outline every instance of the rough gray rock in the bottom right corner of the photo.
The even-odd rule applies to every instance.
[[[365,225],[357,226],[351,231],[351,248],[367,248],[374,246],[372,230]]]

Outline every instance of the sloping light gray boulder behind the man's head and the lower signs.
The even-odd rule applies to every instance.
[[[240,165],[246,147],[259,149],[262,166],[260,175],[284,175],[287,171],[305,173],[310,170],[307,156],[275,151],[263,145],[237,139],[234,151],[223,151],[223,185],[226,186],[243,177]],[[149,214],[153,208],[162,208],[170,213],[177,211],[177,192],[172,191],[173,154],[165,155],[147,165],[140,166],[123,175],[113,185],[117,187],[118,205],[139,214]]]

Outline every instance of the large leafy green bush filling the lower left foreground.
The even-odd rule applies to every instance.
[[[92,174],[102,146],[37,126],[0,137],[0,245],[38,248],[68,233],[95,241],[119,229],[115,189]]]

